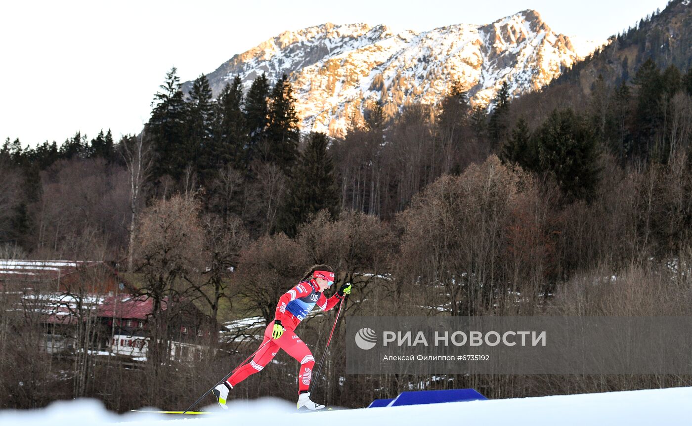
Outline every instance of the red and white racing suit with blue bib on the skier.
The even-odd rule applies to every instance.
[[[315,358],[313,358],[307,345],[295,334],[295,328],[315,305],[319,306],[322,311],[329,311],[343,299],[337,293],[327,299],[323,293],[318,291],[318,288],[319,286],[314,279],[302,281],[280,297],[276,306],[275,320],[281,321],[282,326],[284,326],[284,333],[278,339],[273,339],[271,333],[274,322],[272,321],[266,326],[260,351],[255,353],[250,364],[240,367],[228,378],[228,383],[232,387],[235,387],[251,374],[262,371],[264,366],[273,360],[279,349],[283,349],[300,362],[298,393],[310,388]]]

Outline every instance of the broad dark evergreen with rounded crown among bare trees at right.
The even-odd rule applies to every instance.
[[[540,127],[538,170],[551,174],[567,200],[590,200],[599,182],[597,140],[572,109],[554,110]]]

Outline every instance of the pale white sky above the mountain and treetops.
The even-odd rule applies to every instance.
[[[395,32],[489,24],[537,10],[557,33],[605,41],[668,0],[3,1],[0,139],[59,144],[138,133],[172,66],[181,82],[284,30],[332,22]]]

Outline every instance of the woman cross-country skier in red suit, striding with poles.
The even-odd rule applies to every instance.
[[[297,286],[291,288],[280,297],[276,306],[275,319],[266,326],[264,340],[250,364],[245,364],[233,373],[228,380],[213,389],[214,395],[221,408],[227,409],[228,392],[239,382],[251,374],[262,371],[279,349],[283,349],[295,360],[300,362],[298,379],[298,409],[322,409],[325,406],[310,400],[310,380],[312,368],[315,365],[310,349],[295,334],[295,328],[315,305],[322,311],[334,308],[345,295],[351,294],[351,284],[344,284],[333,296],[325,297],[324,291],[334,284],[334,270],[327,265],[315,265],[300,280]]]

